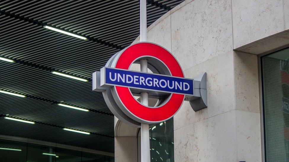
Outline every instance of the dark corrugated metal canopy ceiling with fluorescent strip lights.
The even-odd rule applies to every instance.
[[[182,1],[147,0],[147,25]],[[114,152],[114,117],[102,94],[91,91],[91,74],[138,35],[138,0],[0,1],[0,56],[14,60],[0,60],[0,90],[26,96],[0,93],[0,134]],[[6,114],[35,124],[6,120]]]

